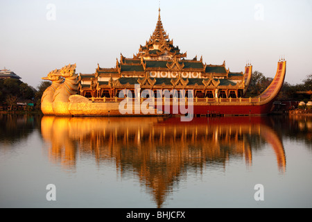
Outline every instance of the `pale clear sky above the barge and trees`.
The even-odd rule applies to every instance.
[[[76,63],[92,74],[132,58],[153,33],[158,0],[0,0],[0,69],[37,87],[53,69]],[[310,0],[162,0],[164,29],[187,59],[226,62],[230,71],[274,77],[281,56],[286,81],[302,83],[312,74],[312,1]]]

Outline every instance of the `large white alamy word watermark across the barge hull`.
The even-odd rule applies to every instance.
[[[189,98],[186,97],[186,93]],[[188,89],[187,92],[185,89],[181,89],[180,96],[177,89],[171,89],[171,91],[157,89],[155,98],[153,90],[144,89],[141,92],[140,85],[135,84],[134,94],[133,98],[129,89],[123,89],[119,92],[119,98],[125,98],[119,103],[119,112],[121,114],[156,114],[155,112],[164,112],[164,114],[182,114],[181,121],[191,121],[193,119],[193,89]],[[141,102],[141,98],[145,100]]]

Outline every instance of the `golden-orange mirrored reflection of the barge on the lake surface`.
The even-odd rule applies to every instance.
[[[286,171],[281,139],[267,117],[42,117],[41,133],[50,144],[46,154],[65,169],[78,160],[110,163],[121,176],[133,173],[161,207],[173,186],[189,171],[227,169],[245,162],[249,169],[263,142],[275,153],[280,173]],[[269,162],[265,163],[272,164]],[[230,167],[231,168],[231,167]]]

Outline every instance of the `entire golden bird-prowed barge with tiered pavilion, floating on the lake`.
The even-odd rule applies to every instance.
[[[44,78],[53,84],[42,96],[42,112],[57,116],[159,115],[166,114],[164,105],[167,104],[171,108],[169,114],[185,114],[180,108],[181,104],[187,104],[188,108],[192,106],[187,112],[198,115],[268,114],[286,74],[286,61],[281,60],[270,86],[257,97],[243,98],[252,78],[251,65],[246,65],[244,73],[232,72],[225,68],[225,62],[206,65],[202,58],[198,60],[196,56],[187,60],[186,57],[187,53],[180,53],[180,49],[173,46],[173,40],[169,40],[159,9],[153,35],[133,58],[121,55],[115,68],[105,69],[98,65],[94,74],[76,74],[76,64],[51,71]],[[127,100],[127,108],[131,106],[132,112],[120,112],[119,104],[125,100],[118,98],[122,89],[128,89],[130,96],[137,100],[137,103]],[[150,103],[150,98],[144,98],[148,97],[144,95],[144,89],[153,93],[148,95],[150,98],[164,90],[173,94],[180,92],[180,98],[172,95],[173,98],[166,99],[161,94],[160,101],[164,104],[156,105],[157,99]],[[181,96],[183,90],[187,93]],[[193,94],[189,94],[189,90]],[[190,100],[193,102],[188,103]],[[138,106],[139,112],[136,111]],[[148,113],[142,112],[142,106]]]

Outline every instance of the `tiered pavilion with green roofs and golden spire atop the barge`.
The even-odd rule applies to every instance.
[[[187,53],[181,53],[173,45],[159,15],[155,31],[133,58],[121,55],[116,67],[102,68],[98,65],[94,74],[80,74],[80,95],[91,98],[113,98],[119,96],[122,89],[130,89],[135,96],[135,85],[141,90],[151,89],[157,96],[157,89],[193,89],[198,98],[239,98],[243,97],[245,78],[250,65],[243,72],[231,72],[222,65],[207,65],[202,57],[187,59]]]

